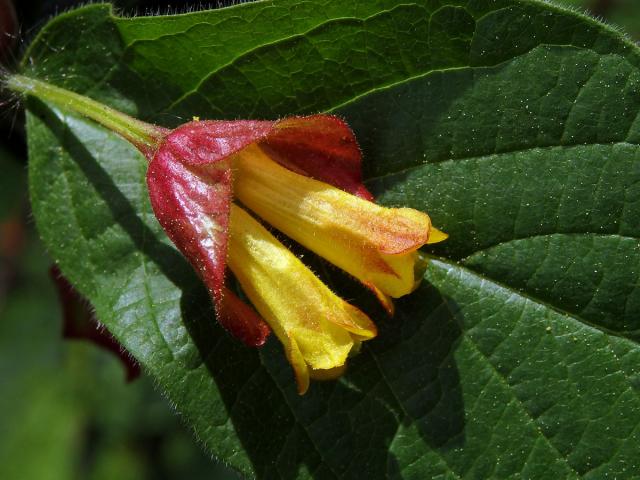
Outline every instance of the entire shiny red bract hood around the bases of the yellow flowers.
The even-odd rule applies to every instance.
[[[328,115],[280,121],[193,121],[169,132],[151,161],[151,205],[169,238],[189,259],[216,306],[218,320],[248,345],[260,346],[269,327],[224,287],[232,156],[257,144],[282,166],[371,200],[362,184],[361,154],[349,127]]]

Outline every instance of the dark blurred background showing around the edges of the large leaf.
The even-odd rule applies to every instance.
[[[556,0],[640,38],[639,0]],[[0,0],[9,71],[35,33],[75,0]],[[239,2],[117,0],[122,15]],[[0,108],[0,479],[236,479],[211,459],[143,374],[127,383],[112,353],[63,339],[51,260],[29,213],[23,116]],[[265,440],[268,441],[268,440]]]

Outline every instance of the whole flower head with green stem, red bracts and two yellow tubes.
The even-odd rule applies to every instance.
[[[244,208],[357,278],[390,313],[391,298],[420,280],[418,248],[446,238],[422,212],[373,203],[353,132],[336,117],[194,120],[168,130],[29,77],[14,75],[6,84],[138,147],[150,162],[154,213],[207,285],[218,319],[251,345],[264,343],[271,327],[301,394],[310,379],[341,375],[376,326]],[[227,266],[259,315],[225,288]]]

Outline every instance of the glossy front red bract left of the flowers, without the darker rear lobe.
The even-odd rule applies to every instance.
[[[224,288],[232,199],[230,155],[272,122],[191,122],[167,135],[147,170],[156,218],[209,289],[218,321],[249,346],[263,345],[268,325]]]

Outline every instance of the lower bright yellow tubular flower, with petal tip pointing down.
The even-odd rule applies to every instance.
[[[342,374],[349,354],[375,337],[373,322],[336,296],[258,221],[231,207],[228,265],[283,343],[298,392]]]

